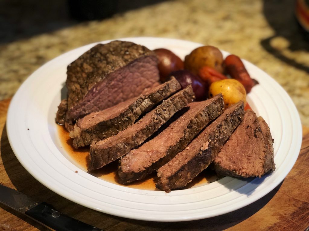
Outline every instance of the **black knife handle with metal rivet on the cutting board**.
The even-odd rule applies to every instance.
[[[45,202],[25,212],[27,216],[56,231],[102,231],[81,221],[60,213]]]

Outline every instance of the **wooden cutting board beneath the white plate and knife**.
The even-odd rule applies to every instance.
[[[309,226],[309,128],[293,169],[275,189],[242,209],[187,222],[137,221],[100,213],[71,202],[34,179],[16,159],[6,135],[10,99],[0,101],[0,184],[52,204],[67,215],[103,230],[306,230]],[[0,205],[0,230],[47,230],[28,217]]]

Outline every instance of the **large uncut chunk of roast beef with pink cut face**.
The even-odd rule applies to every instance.
[[[77,120],[140,95],[159,81],[153,51],[131,42],[97,44],[67,67],[66,120]]]

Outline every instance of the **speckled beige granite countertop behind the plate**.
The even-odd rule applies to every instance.
[[[14,95],[42,64],[76,47],[123,37],[166,37],[213,45],[260,67],[288,92],[309,126],[309,42],[299,34],[293,9],[289,0],[166,1],[2,42],[0,99]]]

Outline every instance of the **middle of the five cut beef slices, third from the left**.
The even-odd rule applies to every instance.
[[[224,110],[221,94],[188,106],[190,109],[158,136],[121,158],[118,168],[121,184],[140,180],[166,164]]]

